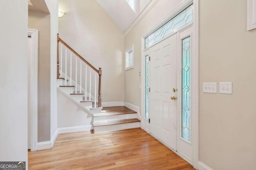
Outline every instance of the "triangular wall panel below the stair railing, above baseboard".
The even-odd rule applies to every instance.
[[[58,128],[91,125],[91,121],[92,115],[58,91]]]

